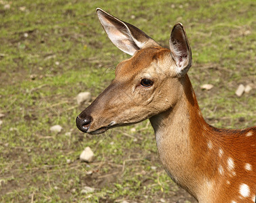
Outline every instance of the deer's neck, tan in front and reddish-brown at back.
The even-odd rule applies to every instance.
[[[187,75],[181,83],[182,94],[177,104],[153,116],[150,121],[155,131],[160,160],[168,175],[200,199],[196,194],[211,190],[211,179],[217,168],[208,152],[209,145],[213,144],[206,137],[211,126],[202,117]]]

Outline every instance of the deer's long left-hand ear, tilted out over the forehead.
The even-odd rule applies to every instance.
[[[111,16],[103,9],[97,8],[98,19],[112,43],[119,49],[133,55],[135,51],[158,43],[147,36],[143,31],[127,22]]]

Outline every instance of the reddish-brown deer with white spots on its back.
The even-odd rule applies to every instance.
[[[103,9],[96,13],[111,42],[132,57],[77,116],[77,128],[96,135],[149,118],[166,173],[198,202],[255,202],[256,127],[218,129],[204,120],[187,74],[183,24],[173,26],[167,49]]]

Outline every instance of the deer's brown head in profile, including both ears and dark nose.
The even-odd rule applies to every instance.
[[[182,24],[172,28],[170,49],[166,49],[139,28],[102,9],[96,12],[112,43],[132,58],[117,65],[109,87],[77,116],[78,129],[103,133],[173,108],[191,66],[191,49]]]

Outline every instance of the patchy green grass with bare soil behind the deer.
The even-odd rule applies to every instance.
[[[164,172],[147,120],[98,136],[76,129],[86,106],[77,106],[75,96],[90,91],[95,98],[128,58],[105,35],[96,7],[165,47],[172,26],[182,22],[194,59],[189,76],[206,120],[215,127],[255,125],[253,1],[0,1],[1,202],[193,201],[179,196]],[[205,83],[213,89],[202,91]],[[236,97],[240,83],[253,90]],[[62,132],[50,132],[52,125]],[[90,164],[78,159],[86,146],[96,156]],[[84,186],[94,193],[81,194]]]

